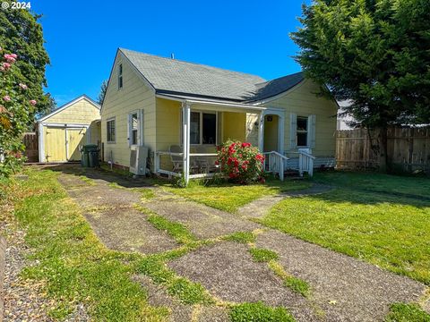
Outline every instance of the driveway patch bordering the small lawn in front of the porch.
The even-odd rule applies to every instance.
[[[160,196],[160,197],[159,197]],[[197,238],[208,239],[236,232],[254,231],[262,228],[224,211],[186,201],[168,192],[144,205],[160,216],[185,225]]]

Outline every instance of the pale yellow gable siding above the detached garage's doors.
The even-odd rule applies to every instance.
[[[63,111],[52,115],[43,121],[43,123],[61,123],[61,124],[85,124],[89,125],[92,121],[100,118],[99,109],[93,106],[85,98],[68,106]]]

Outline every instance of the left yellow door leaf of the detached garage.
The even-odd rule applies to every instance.
[[[43,139],[47,162],[66,161],[64,128],[44,126]]]

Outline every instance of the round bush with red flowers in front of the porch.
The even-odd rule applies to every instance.
[[[264,182],[264,156],[251,143],[228,140],[218,147],[217,164],[230,181]]]

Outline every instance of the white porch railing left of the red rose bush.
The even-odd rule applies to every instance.
[[[173,165],[172,170],[162,169],[160,166],[160,157],[161,156],[169,156],[169,164]],[[213,158],[218,157],[216,153],[190,153],[190,169],[189,169],[189,178],[197,179],[197,178],[210,178],[217,174],[219,171],[211,172],[216,169],[215,166],[211,166],[211,161],[208,160],[206,163],[202,162],[202,158]],[[169,177],[176,176],[181,177],[184,175],[184,153],[176,153],[170,151],[157,151],[155,152],[155,173],[156,174],[167,174]],[[200,160],[193,161],[194,158],[200,158]],[[176,159],[177,158],[177,159]]]

